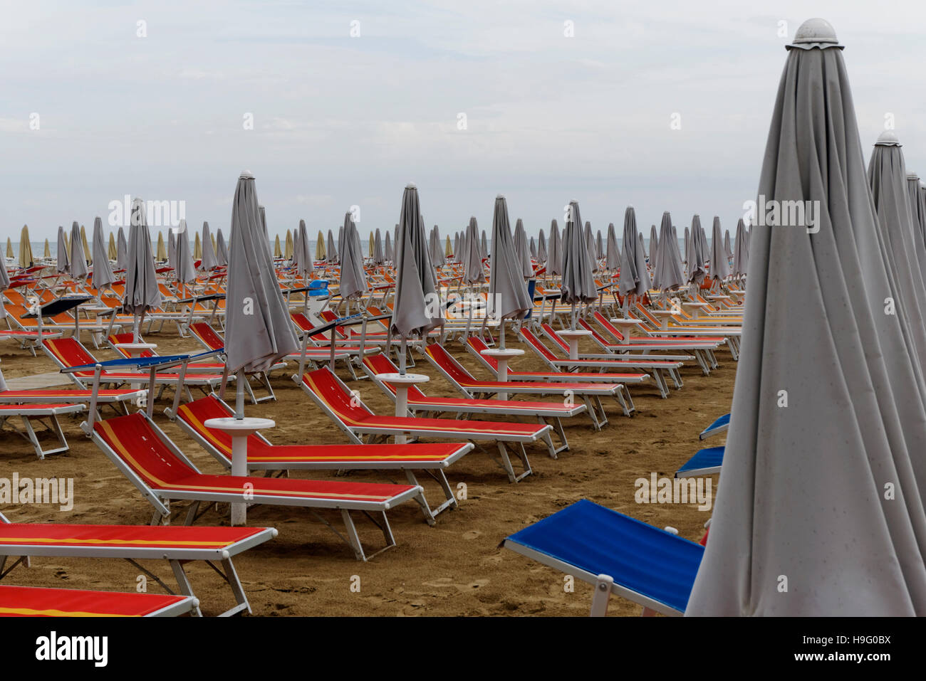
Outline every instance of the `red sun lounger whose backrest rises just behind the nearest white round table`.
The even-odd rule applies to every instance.
[[[174,418],[170,410],[165,413]],[[233,414],[232,408],[213,394],[178,407],[176,423],[216,457],[219,464],[231,468],[232,437],[204,424],[210,418],[228,418]],[[414,471],[423,470],[444,490],[444,502],[431,509],[432,515],[437,515],[444,509],[457,508],[457,497],[444,476],[444,469],[472,448],[470,442],[275,445],[255,433],[247,439],[247,468],[249,471],[398,469],[405,472],[411,485],[419,484]]]

